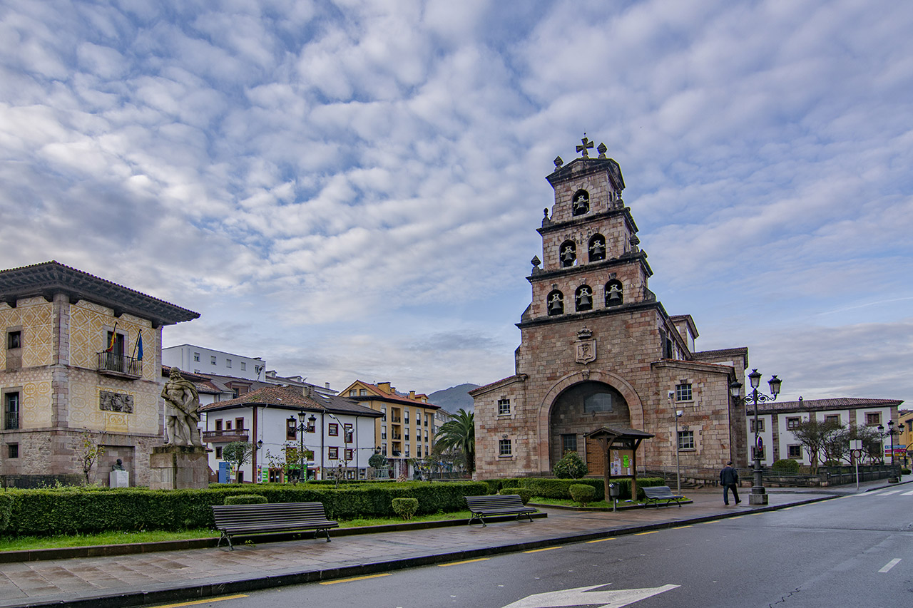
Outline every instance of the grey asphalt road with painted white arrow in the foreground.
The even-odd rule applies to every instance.
[[[536,608],[631,603],[637,608],[911,606],[913,488],[358,580],[281,587],[200,605]]]

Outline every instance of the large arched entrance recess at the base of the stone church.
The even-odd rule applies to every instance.
[[[586,459],[591,450],[583,435],[602,426],[631,427],[631,412],[622,393],[596,381],[576,383],[561,392],[549,414],[549,470],[568,450]]]

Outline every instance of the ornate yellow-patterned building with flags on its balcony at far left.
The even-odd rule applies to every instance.
[[[80,452],[104,451],[91,481],[121,459],[148,485],[163,443],[162,327],[200,315],[45,262],[0,271],[0,482],[85,480]]]

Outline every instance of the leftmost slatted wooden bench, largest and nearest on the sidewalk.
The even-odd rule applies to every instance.
[[[216,547],[222,540],[228,541],[228,548],[235,550],[232,536],[247,536],[257,532],[293,532],[314,530],[314,538],[320,531],[330,542],[330,529],[338,528],[338,521],[327,519],[320,502],[278,502],[266,505],[214,505],[215,528],[221,530]]]

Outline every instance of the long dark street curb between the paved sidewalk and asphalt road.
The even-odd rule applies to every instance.
[[[207,582],[188,584],[183,587],[170,589],[151,589],[149,591],[134,591],[113,593],[108,595],[94,595],[80,597],[76,599],[67,599],[56,596],[48,597],[45,600],[37,600],[27,603],[0,603],[3,608],[50,608],[51,606],[69,606],[71,608],[128,608],[151,603],[169,603],[185,602],[199,599],[215,597],[218,595],[227,595],[232,593],[252,592],[261,589],[269,589],[278,586],[302,584],[306,582],[322,582],[332,579],[351,578],[356,576],[366,576],[379,572],[404,570],[406,568],[417,568],[420,566],[435,565],[447,561],[464,561],[473,560],[481,557],[489,557],[502,553],[513,553],[516,551],[543,549],[546,547],[561,546],[571,542],[585,542],[587,540],[600,540],[606,538],[628,536],[641,532],[649,532],[659,529],[678,528],[690,524],[715,521],[718,519],[729,519],[740,517],[746,513],[763,513],[780,510],[783,508],[797,507],[824,500],[839,498],[838,496],[823,496],[817,498],[808,498],[792,502],[790,504],[768,506],[763,508],[751,508],[743,510],[733,509],[729,513],[720,513],[711,516],[702,516],[690,519],[678,519],[676,521],[664,521],[653,524],[644,524],[642,526],[629,526],[617,529],[601,529],[584,534],[573,534],[567,537],[530,540],[512,545],[501,545],[498,547],[486,547],[482,549],[459,550],[446,553],[437,553],[433,555],[424,555],[414,558],[394,559],[391,561],[379,561],[375,563],[357,564],[351,566],[340,566],[326,570],[307,570],[297,572],[278,572],[270,575],[253,576],[241,580],[226,580],[223,582]],[[544,514],[543,514],[544,515]],[[535,516],[535,514],[534,514]],[[509,516],[508,516],[509,517]],[[426,522],[432,523],[432,522]]]

